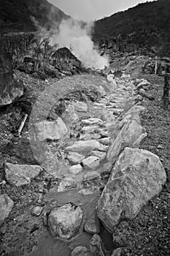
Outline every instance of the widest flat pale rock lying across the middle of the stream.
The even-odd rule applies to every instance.
[[[100,148],[100,146],[102,145],[97,140],[80,140],[76,141],[72,146],[66,147],[65,151],[74,151],[80,152],[82,154],[87,154],[95,148]]]

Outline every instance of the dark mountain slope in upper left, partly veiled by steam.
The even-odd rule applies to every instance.
[[[47,0],[0,0],[0,29],[4,31],[34,31],[34,20],[40,26],[51,26],[66,18]]]

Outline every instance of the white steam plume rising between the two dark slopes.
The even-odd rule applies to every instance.
[[[77,20],[63,20],[59,29],[51,37],[50,44],[66,47],[72,50],[85,67],[103,69],[109,66],[107,56],[100,56],[90,38],[93,23],[82,23]]]

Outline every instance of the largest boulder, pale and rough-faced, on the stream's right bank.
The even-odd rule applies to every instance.
[[[121,218],[136,217],[148,200],[161,192],[165,182],[166,172],[155,154],[125,148],[98,200],[99,219],[112,232]]]

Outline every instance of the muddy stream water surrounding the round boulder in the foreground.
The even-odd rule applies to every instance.
[[[82,195],[79,189],[73,189],[68,192],[61,193],[48,193],[46,195],[46,199],[56,200],[58,206],[62,206],[65,203],[72,202],[77,206],[81,206],[84,212],[84,219],[90,216],[93,216],[96,203],[99,198],[99,193],[93,193],[90,195]],[[107,250],[114,249],[114,244],[112,244],[112,235],[104,230],[104,227],[101,227],[102,240],[104,241]],[[77,234],[72,239],[68,241],[61,241],[59,239],[54,239],[53,236],[46,230],[42,235],[42,239],[39,243],[38,249],[31,253],[29,256],[70,256],[72,249],[77,246],[86,246],[89,247],[89,241],[92,235],[86,233],[82,228],[80,229],[80,233]]]

